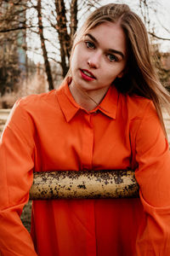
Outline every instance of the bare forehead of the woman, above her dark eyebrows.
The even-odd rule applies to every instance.
[[[118,23],[103,22],[94,28],[89,29],[86,34],[91,34],[97,42],[106,49],[121,50],[127,52],[126,36]]]

